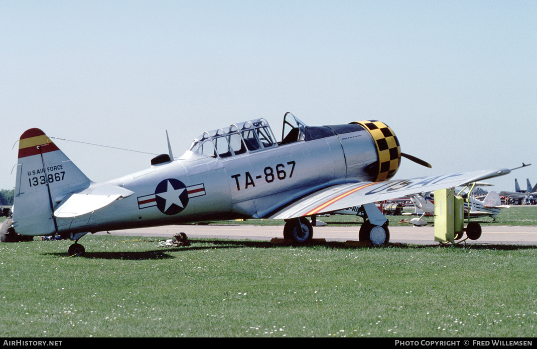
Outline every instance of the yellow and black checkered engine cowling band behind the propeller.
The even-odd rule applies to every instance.
[[[365,127],[373,137],[375,142],[376,152],[379,157],[378,173],[373,181],[387,180],[394,177],[395,173],[399,169],[401,164],[401,146],[395,133],[391,128],[381,121],[365,120],[355,121],[352,123],[358,123]],[[374,177],[374,174],[372,174]]]

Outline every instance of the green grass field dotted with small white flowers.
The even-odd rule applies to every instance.
[[[536,246],[159,248],[159,240],[86,236],[85,257],[68,257],[69,241],[0,244],[0,336],[537,333]]]

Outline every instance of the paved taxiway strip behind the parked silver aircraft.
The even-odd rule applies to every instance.
[[[185,232],[189,239],[220,238],[249,239],[270,241],[272,238],[283,238],[283,226],[244,226],[244,225],[210,225],[210,226],[163,226],[111,231],[112,235],[154,236],[171,238],[179,232]],[[434,242],[434,227],[390,226],[390,242],[418,245],[438,245]],[[314,227],[314,238],[326,241],[358,241],[357,227]],[[475,241],[466,240],[467,244],[502,244],[502,245],[535,245],[537,246],[537,227],[482,227],[481,237]],[[99,235],[107,234],[99,232]]]

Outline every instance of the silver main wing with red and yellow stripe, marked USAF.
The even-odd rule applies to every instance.
[[[511,170],[487,170],[381,182],[337,184],[322,188],[276,210],[267,218],[291,219],[329,213],[366,203],[391,200],[503,176]]]

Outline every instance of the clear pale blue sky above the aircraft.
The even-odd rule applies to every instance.
[[[2,1],[0,188],[26,129],[174,155],[259,117],[386,122],[396,178],[513,168],[537,183],[537,2]],[[94,181],[152,155],[56,144]],[[12,147],[14,148],[12,149]]]

